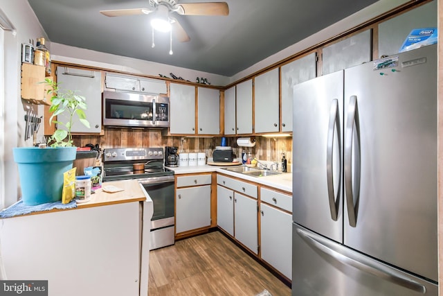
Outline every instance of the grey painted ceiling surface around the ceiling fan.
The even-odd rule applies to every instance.
[[[218,1],[218,0],[210,0]],[[229,15],[174,14],[190,36],[155,33],[151,15],[105,17],[99,10],[149,8],[148,0],[28,0],[51,42],[233,76],[377,0],[226,0]],[[205,2],[181,0],[179,3]]]

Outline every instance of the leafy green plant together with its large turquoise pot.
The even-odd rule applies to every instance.
[[[70,89],[60,89],[57,82],[46,78],[44,82],[51,94],[52,113],[49,123],[57,123],[65,130],[57,129],[48,140],[47,148],[14,148],[14,160],[19,167],[22,200],[26,205],[43,204],[62,200],[63,173],[73,167],[77,148],[73,144],[71,127],[74,116],[89,128],[84,110],[86,99]],[[61,117],[67,116],[62,122]],[[53,120],[57,116],[57,120]]]

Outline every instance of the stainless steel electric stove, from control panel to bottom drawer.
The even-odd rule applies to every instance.
[[[150,250],[174,244],[174,171],[163,166],[163,148],[110,148],[103,150],[103,182],[136,179],[152,200]],[[133,164],[144,164],[134,171]]]

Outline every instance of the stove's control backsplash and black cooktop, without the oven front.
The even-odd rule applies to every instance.
[[[163,166],[163,148],[109,148],[103,150],[103,182],[174,175]],[[134,171],[132,164],[145,163]]]

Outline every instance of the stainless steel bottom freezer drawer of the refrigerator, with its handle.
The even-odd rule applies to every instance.
[[[293,223],[293,296],[437,296],[428,281]]]

